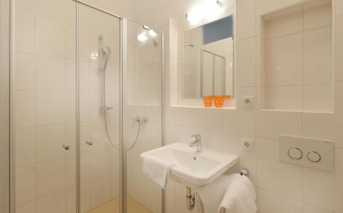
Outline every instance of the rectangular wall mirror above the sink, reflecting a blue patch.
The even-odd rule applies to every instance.
[[[233,97],[233,16],[183,33],[182,97]]]

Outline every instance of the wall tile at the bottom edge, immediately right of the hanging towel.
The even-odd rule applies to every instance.
[[[276,195],[267,190],[257,190],[257,206],[261,213],[302,213],[302,205],[299,201],[294,201],[281,195]]]

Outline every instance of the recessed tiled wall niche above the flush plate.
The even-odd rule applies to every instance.
[[[332,14],[331,1],[311,0],[261,16],[261,109],[333,111]]]

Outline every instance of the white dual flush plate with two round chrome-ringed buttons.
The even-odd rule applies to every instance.
[[[333,142],[279,136],[279,158],[282,162],[332,172]]]

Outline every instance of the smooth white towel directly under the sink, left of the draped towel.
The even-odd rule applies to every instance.
[[[211,184],[196,189],[196,211],[198,213],[217,212],[226,188],[240,175],[220,175]]]

